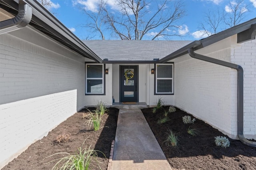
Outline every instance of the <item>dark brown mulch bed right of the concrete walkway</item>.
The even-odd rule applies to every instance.
[[[168,113],[170,121],[157,124],[159,117],[164,115],[168,107],[152,113],[152,108],[142,109],[158,143],[173,169],[193,170],[255,170],[256,148],[244,145],[239,140],[229,139],[230,147],[217,147],[214,137],[225,136],[204,121],[196,119],[194,124],[184,124],[182,117],[190,115],[176,108],[176,112]],[[193,116],[190,115],[192,118]],[[193,137],[187,133],[188,127],[200,131],[200,135]],[[166,145],[168,129],[179,134],[177,148]]]

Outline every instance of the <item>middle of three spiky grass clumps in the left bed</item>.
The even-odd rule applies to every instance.
[[[89,128],[91,128],[91,126],[93,125],[94,127],[94,131],[98,131],[100,129],[100,123],[101,123],[101,115],[100,112],[96,109],[95,111],[93,111],[94,113],[92,113],[89,109],[88,111],[89,113],[89,117],[90,119],[88,121],[86,121],[86,124],[88,125]]]

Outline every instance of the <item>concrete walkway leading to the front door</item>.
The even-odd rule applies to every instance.
[[[171,170],[162,149],[138,108],[120,109],[112,170]]]

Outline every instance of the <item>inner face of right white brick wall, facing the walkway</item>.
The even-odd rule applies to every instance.
[[[219,47],[223,43],[219,43]],[[217,49],[214,45],[195,53],[230,62],[230,48]],[[192,59],[188,55],[184,58],[174,61],[175,105],[234,137],[231,127],[232,115],[236,115],[236,88],[232,83],[236,70]],[[235,94],[232,94],[233,88]]]

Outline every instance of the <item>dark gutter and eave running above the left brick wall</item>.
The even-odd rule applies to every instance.
[[[97,63],[101,63],[102,59],[98,57],[89,47],[87,47],[76,35],[74,35],[67,27],[65,27],[58,19],[56,19],[48,10],[46,10],[39,2],[31,0],[22,0],[30,7],[32,7],[32,21],[30,25],[39,29],[39,31],[46,33],[46,35],[54,38],[68,48],[76,51],[83,57],[92,59]],[[18,10],[18,4],[14,1],[3,0],[15,10]],[[19,0],[15,0],[16,3]],[[40,29],[43,28],[43,29]]]

